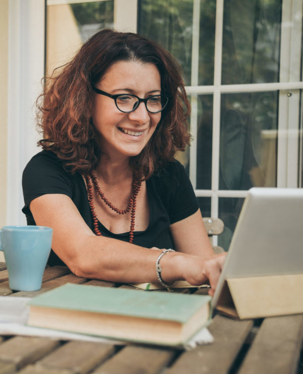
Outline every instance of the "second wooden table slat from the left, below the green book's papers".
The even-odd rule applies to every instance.
[[[112,344],[72,341],[45,356],[37,363],[40,367],[68,369],[72,373],[86,374],[115,352]]]

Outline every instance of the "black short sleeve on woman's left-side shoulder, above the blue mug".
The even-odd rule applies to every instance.
[[[24,207],[30,214],[29,204],[36,197],[48,194],[64,194],[72,198],[73,184],[69,174],[53,152],[42,151],[31,158],[22,175]]]

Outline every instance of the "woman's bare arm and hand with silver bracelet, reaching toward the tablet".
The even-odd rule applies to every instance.
[[[157,282],[155,263],[160,249],[94,235],[68,196],[39,196],[30,203],[30,210],[37,225],[54,229],[52,248],[75,275],[113,282]],[[213,262],[221,269],[218,261]],[[202,256],[179,252],[169,252],[161,264],[168,283],[179,279],[205,283],[214,267]],[[217,276],[214,285],[216,281]]]

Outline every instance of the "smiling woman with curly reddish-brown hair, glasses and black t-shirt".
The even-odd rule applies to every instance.
[[[23,212],[54,229],[49,263],[113,282],[209,281],[213,294],[225,256],[173,158],[190,140],[176,61],[137,34],[103,30],[41,96],[43,151],[23,173]]]

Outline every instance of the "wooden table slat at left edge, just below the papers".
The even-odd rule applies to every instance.
[[[16,336],[0,344],[0,362],[14,363],[20,369],[43,357],[59,344],[48,338]]]

